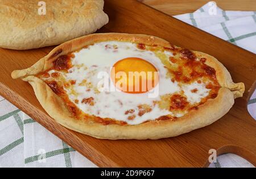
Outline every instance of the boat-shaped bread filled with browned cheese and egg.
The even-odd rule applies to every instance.
[[[98,90],[98,74],[108,74],[112,66],[118,69],[116,64],[123,65],[129,57],[142,58],[158,69],[158,97]],[[132,60],[135,70],[148,66],[141,65],[138,58]],[[125,71],[129,62],[123,66]],[[38,101],[56,122],[100,139],[181,135],[220,119],[245,91],[245,85],[234,83],[213,56],[137,34],[73,39],[30,68],[14,70],[11,76],[32,85]]]

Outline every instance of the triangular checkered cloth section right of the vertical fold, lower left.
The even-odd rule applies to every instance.
[[[23,119],[26,167],[96,167],[28,115]]]

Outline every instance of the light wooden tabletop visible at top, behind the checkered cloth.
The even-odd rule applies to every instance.
[[[168,15],[191,13],[209,0],[139,0],[148,6]],[[255,0],[216,0],[217,6],[223,10],[256,11]]]

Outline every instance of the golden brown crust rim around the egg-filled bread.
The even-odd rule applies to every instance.
[[[234,84],[228,70],[214,57],[205,53],[194,52],[197,56],[205,57],[207,59],[206,64],[216,69],[216,76],[221,85],[217,97],[208,99],[197,110],[191,110],[177,120],[152,120],[133,126],[102,125],[101,123],[93,122],[93,120],[73,118],[64,101],[53,93],[44,81],[34,75],[51,68],[52,61],[60,55],[77,51],[98,41],[107,40],[132,41],[146,45],[158,44],[171,48],[168,41],[153,36],[114,33],[93,34],[68,41],[56,47],[31,68],[15,70],[12,73],[12,77],[28,81],[34,88],[36,97],[41,105],[58,123],[72,130],[101,139],[160,139],[184,134],[220,119],[233,106],[234,98],[240,97],[244,91],[244,85],[242,83]],[[59,53],[60,51],[61,53]],[[56,55],[56,52],[59,54]]]

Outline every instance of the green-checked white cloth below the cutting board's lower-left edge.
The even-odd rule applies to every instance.
[[[0,167],[96,167],[0,97]]]

